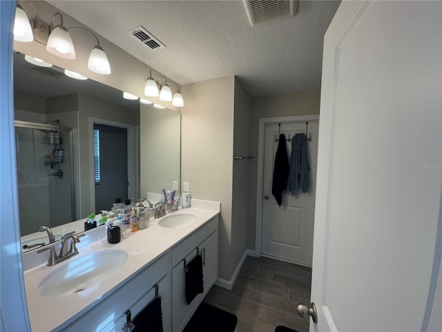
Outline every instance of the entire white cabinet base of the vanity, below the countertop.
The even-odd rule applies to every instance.
[[[203,259],[204,293],[197,295],[187,305],[183,259],[190,262],[197,255],[197,248]],[[155,299],[155,284],[162,297],[164,332],[182,331],[217,277],[218,216],[215,216],[139,273],[135,273],[124,286],[104,294],[102,302],[80,313],[79,318],[62,331],[121,332],[126,324],[127,310],[131,311],[133,319]]]

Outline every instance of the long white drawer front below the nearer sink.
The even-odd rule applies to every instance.
[[[169,272],[169,264],[166,253],[63,331],[102,331],[162,279]]]

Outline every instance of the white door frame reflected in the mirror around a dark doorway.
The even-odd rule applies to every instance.
[[[89,117],[89,174],[94,174],[94,142],[93,142],[93,133],[94,133],[94,124],[104,124],[106,126],[119,127],[127,129],[127,181],[129,183],[127,187],[128,197],[134,197],[138,199],[140,196],[140,185],[137,186],[137,183],[140,183],[140,156],[136,153],[136,151],[140,151],[140,131],[136,130],[136,126],[134,124],[127,124],[122,122],[115,122],[106,119],[100,118],[92,118]],[[90,190],[90,206],[95,210],[95,183],[94,181],[90,181],[89,183]],[[128,198],[126,197],[126,198]]]

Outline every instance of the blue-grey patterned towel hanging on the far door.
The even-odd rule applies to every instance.
[[[291,140],[289,191],[294,195],[298,189],[303,193],[309,190],[307,137],[304,133],[296,133]]]

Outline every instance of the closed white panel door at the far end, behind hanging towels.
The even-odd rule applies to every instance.
[[[318,122],[282,122],[265,126],[264,181],[262,201],[261,253],[305,266],[311,266],[313,252],[314,199],[316,181]],[[286,138],[287,156],[291,156],[291,138],[307,130],[307,156],[309,159],[309,190],[292,196],[282,193],[281,206],[271,194],[273,165],[278,149],[279,133]],[[311,135],[311,136],[310,136]]]

